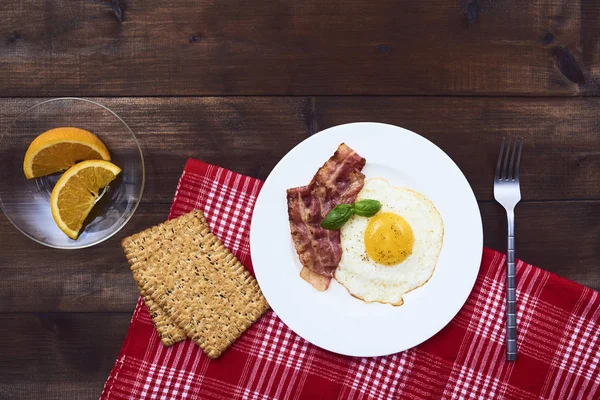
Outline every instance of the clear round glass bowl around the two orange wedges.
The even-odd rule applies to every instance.
[[[50,193],[60,174],[31,180],[23,174],[23,158],[33,139],[62,126],[97,135],[108,147],[111,161],[122,169],[105,188],[77,240],[58,229],[50,211]],[[79,249],[117,233],[140,203],[144,179],[142,150],[131,129],[117,114],[90,100],[60,98],[39,103],[19,115],[0,137],[0,207],[18,230],[46,246]]]

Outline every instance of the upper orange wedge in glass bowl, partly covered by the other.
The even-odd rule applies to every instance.
[[[108,149],[96,135],[79,128],[56,128],[29,145],[23,172],[27,179],[66,171],[83,160],[110,161]]]

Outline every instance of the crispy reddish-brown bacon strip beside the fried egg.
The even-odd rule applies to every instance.
[[[318,290],[326,290],[342,257],[340,231],[321,228],[335,206],[353,203],[365,176],[365,159],[340,144],[307,186],[287,190],[290,230],[304,266],[300,276]]]

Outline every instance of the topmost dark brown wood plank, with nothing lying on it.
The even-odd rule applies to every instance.
[[[0,93],[598,95],[600,3],[0,2]]]

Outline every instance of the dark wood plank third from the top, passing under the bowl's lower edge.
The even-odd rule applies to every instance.
[[[480,204],[485,245],[505,248],[505,214]],[[79,251],[32,243],[0,219],[0,312],[133,310],[138,296],[120,240],[166,219],[167,205],[144,204],[115,237]],[[600,289],[600,201],[526,202],[517,207],[517,256]],[[24,284],[27,282],[27,284]]]

